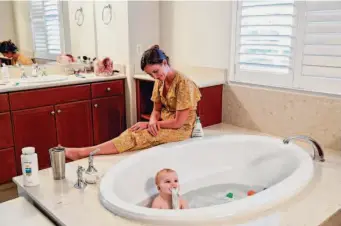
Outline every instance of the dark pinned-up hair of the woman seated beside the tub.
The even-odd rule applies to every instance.
[[[163,60],[166,60],[169,64],[169,57],[158,45],[154,45],[143,53],[141,58],[141,69],[144,71],[147,64],[161,64]]]

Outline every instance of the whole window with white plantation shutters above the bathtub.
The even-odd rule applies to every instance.
[[[341,2],[235,4],[233,81],[341,94]]]

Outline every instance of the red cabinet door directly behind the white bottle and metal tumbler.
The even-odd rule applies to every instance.
[[[50,156],[48,150],[57,145],[53,106],[14,111],[14,143],[17,161],[17,172],[21,172],[21,149],[33,146],[38,154],[39,169],[48,168]]]

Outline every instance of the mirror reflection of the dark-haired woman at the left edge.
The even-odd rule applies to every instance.
[[[0,53],[7,58],[12,59],[13,64],[32,65],[33,61],[18,52],[18,47],[11,41],[0,42]]]

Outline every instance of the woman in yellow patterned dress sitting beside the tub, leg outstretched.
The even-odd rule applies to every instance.
[[[66,148],[67,158],[87,157],[96,148],[100,149],[97,154],[118,154],[191,137],[201,98],[198,87],[171,68],[168,56],[157,45],[144,52],[141,69],[155,79],[149,122],[138,122],[119,137],[94,147]]]

